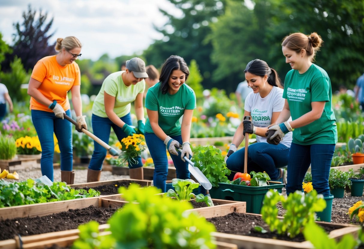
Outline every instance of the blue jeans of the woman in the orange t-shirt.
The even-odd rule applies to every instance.
[[[66,114],[71,117],[71,110],[67,110]],[[67,119],[57,118],[54,113],[39,110],[32,110],[32,121],[42,148],[40,159],[42,175],[53,181],[53,132],[58,139],[61,152],[61,170],[72,171],[72,123]]]

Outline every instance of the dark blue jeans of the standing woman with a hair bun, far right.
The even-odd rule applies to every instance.
[[[329,174],[334,151],[335,144],[292,143],[287,168],[287,195],[296,190],[302,191],[302,181],[311,164],[313,189],[325,197],[329,196]]]

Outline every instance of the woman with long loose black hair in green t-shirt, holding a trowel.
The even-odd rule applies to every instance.
[[[150,87],[145,98],[148,120],[145,140],[154,163],[154,186],[166,192],[168,159],[166,146],[177,171],[178,179],[190,178],[183,156],[192,156],[190,130],[196,96],[185,81],[190,71],[179,56],[170,56],[163,64],[159,82]],[[179,119],[182,117],[182,124]],[[182,145],[181,157],[177,148]]]

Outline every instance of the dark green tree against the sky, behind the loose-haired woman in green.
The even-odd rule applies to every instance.
[[[163,39],[155,41],[144,51],[143,56],[149,64],[159,68],[171,55],[177,54],[185,61],[196,60],[203,76],[202,85],[211,88],[220,85],[211,78],[216,66],[210,61],[212,45],[204,41],[211,32],[209,24],[224,13],[226,0],[169,0],[183,12],[181,18],[175,17],[175,12],[160,11],[169,21],[161,28],[155,27],[163,34]]]

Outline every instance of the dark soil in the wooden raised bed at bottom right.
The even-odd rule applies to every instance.
[[[229,215],[214,217],[207,219],[213,223],[216,227],[217,232],[238,234],[245,236],[254,236],[259,238],[274,238],[277,240],[287,240],[294,242],[305,241],[302,234],[298,234],[294,238],[289,238],[288,236],[282,236],[274,232],[269,231],[269,226],[265,224],[261,216],[251,215],[247,213],[230,213]],[[261,233],[254,230],[255,226],[261,226],[268,232]],[[324,226],[326,232],[331,232],[336,228],[334,226]]]

